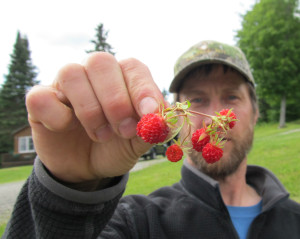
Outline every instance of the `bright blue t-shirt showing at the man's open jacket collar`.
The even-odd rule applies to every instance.
[[[227,209],[240,239],[246,239],[252,221],[261,212],[262,201],[251,207],[227,206]]]

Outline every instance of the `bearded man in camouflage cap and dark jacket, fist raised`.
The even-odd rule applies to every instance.
[[[203,113],[234,108],[239,122],[224,155],[207,165],[190,153],[179,183],[120,199],[150,147],[136,136],[137,120],[163,100],[147,67],[96,53],[62,68],[51,87],[32,89],[39,157],[4,238],[299,238],[299,204],[271,172],[247,166],[258,108],[243,53],[200,42],[179,58],[170,91]],[[193,117],[195,127],[203,120]]]

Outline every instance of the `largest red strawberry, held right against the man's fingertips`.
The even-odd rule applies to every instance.
[[[160,114],[146,114],[138,122],[137,135],[145,142],[157,144],[164,142],[170,131],[168,125]]]

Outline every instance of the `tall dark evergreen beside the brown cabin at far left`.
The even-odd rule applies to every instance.
[[[26,92],[38,81],[26,36],[17,33],[9,72],[0,90],[0,153],[13,148],[12,132],[27,124]]]

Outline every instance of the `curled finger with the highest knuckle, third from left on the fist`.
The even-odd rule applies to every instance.
[[[133,137],[137,115],[119,63],[112,55],[98,53],[89,57],[85,69],[109,126],[124,138]],[[101,133],[99,128],[96,134]]]

